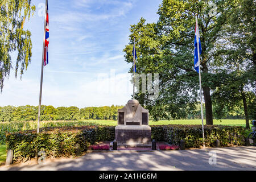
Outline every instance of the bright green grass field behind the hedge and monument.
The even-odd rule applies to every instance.
[[[85,121],[86,122],[86,121]],[[100,125],[110,125],[116,126],[117,121],[102,121],[102,120],[93,120],[87,122],[94,122]],[[201,119],[180,119],[180,120],[162,120],[158,122],[150,121],[149,125],[201,125]],[[245,119],[221,119],[221,120],[213,120],[214,125],[228,125],[228,126],[243,126],[245,127]],[[205,120],[204,120],[205,125]]]

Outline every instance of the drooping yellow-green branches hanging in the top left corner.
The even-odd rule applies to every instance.
[[[20,67],[20,78],[24,69],[27,69],[31,61],[31,33],[23,30],[24,22],[30,19],[35,6],[31,0],[1,0],[0,2],[0,88],[3,89],[5,78],[9,77],[11,64],[10,53],[18,52],[15,62],[15,77]]]

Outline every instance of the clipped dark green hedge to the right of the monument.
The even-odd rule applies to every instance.
[[[221,146],[244,145],[246,131],[240,126],[205,126],[205,146],[213,147],[216,139]],[[178,145],[185,141],[186,148],[203,146],[203,132],[200,125],[151,126],[151,138]]]

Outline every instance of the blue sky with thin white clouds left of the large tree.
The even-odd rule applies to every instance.
[[[32,60],[22,80],[13,71],[5,80],[0,106],[38,105],[45,1],[26,28],[32,34]],[[48,0],[49,64],[44,67],[42,104],[124,105],[133,94],[124,60],[130,25],[141,17],[156,22],[158,0]],[[15,62],[15,53],[12,54]]]

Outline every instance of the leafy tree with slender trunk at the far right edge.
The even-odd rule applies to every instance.
[[[216,105],[220,106],[218,111],[224,108],[234,110],[242,103],[247,128],[250,127],[249,113],[252,113],[248,104],[255,100],[256,93],[255,6],[255,1],[237,1],[225,26],[225,33],[217,44],[218,54],[214,56],[217,65],[215,70],[222,72],[222,82],[213,93]],[[250,99],[253,92],[254,99]]]

